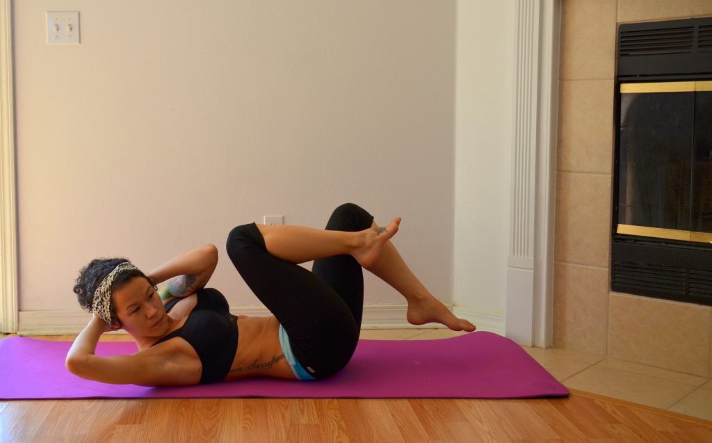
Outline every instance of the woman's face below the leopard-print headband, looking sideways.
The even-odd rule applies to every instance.
[[[116,316],[127,333],[140,337],[166,333],[168,315],[157,291],[145,278],[132,278],[111,296]]]

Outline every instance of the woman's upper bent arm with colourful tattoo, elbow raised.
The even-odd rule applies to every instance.
[[[154,285],[173,278],[162,291],[161,298],[184,297],[204,288],[217,264],[218,249],[213,244],[206,244],[174,256],[146,276]],[[164,293],[166,291],[168,293]]]

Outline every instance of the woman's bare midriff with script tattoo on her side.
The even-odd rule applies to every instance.
[[[275,316],[238,316],[237,330],[237,353],[225,380],[295,378],[279,343],[279,322]]]

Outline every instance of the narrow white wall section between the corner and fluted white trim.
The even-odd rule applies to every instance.
[[[507,289],[514,19],[513,1],[457,2],[454,301],[501,317]]]

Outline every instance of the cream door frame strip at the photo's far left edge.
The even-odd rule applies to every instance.
[[[18,328],[12,4],[0,0],[0,333]]]

